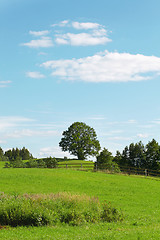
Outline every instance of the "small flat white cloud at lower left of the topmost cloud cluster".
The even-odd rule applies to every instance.
[[[40,39],[31,40],[28,43],[23,43],[22,45],[30,48],[40,48],[40,47],[47,48],[47,47],[52,47],[53,42],[50,37],[41,37]]]

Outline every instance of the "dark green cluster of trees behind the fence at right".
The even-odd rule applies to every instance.
[[[160,145],[155,139],[144,145],[141,141],[131,143],[122,152],[117,151],[113,156],[104,148],[96,158],[95,166],[98,169],[139,168],[160,170]]]

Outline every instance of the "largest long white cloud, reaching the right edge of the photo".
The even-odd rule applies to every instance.
[[[159,74],[160,58],[105,51],[85,58],[47,61],[41,66],[65,80],[128,82],[151,79]]]

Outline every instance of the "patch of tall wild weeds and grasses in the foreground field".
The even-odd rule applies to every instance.
[[[80,225],[86,222],[122,220],[122,215],[98,199],[67,193],[50,195],[0,196],[0,225],[43,226],[67,223]]]

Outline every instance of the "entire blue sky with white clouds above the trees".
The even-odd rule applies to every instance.
[[[160,2],[1,0],[0,146],[61,152],[82,121],[113,154],[160,142]]]

